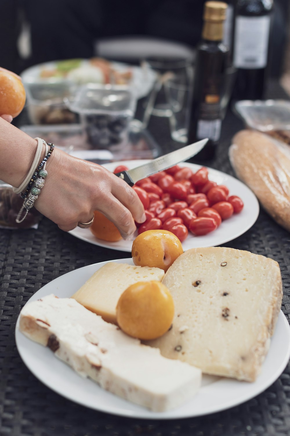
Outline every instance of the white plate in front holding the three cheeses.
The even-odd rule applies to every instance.
[[[133,264],[132,259],[113,262]],[[43,286],[30,300],[38,300],[50,293],[63,298],[70,297],[105,263],[84,266],[68,272]],[[290,328],[286,317],[280,312],[270,350],[263,363],[261,374],[254,383],[203,375],[202,387],[193,399],[177,409],[157,413],[127,402],[103,390],[94,381],[80,377],[72,368],[57,359],[49,348],[30,341],[20,333],[19,320],[16,324],[15,337],[23,362],[50,389],[91,409],[132,418],[179,419],[228,409],[267,389],[283,372],[290,357]]]

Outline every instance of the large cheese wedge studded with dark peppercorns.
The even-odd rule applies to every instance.
[[[163,283],[174,300],[173,327],[147,344],[203,372],[254,381],[281,306],[278,263],[230,248],[190,249]]]

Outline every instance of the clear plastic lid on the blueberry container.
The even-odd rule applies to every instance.
[[[83,115],[110,114],[133,116],[136,109],[136,96],[128,89],[85,85],[77,90],[73,101],[66,101],[73,112]]]

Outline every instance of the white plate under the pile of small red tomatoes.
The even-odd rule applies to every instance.
[[[125,160],[122,162],[111,162],[110,164],[103,165],[110,171],[113,171],[117,165],[126,165],[129,168],[138,167],[145,164],[149,160]],[[200,165],[180,163],[180,167],[189,167],[193,172],[196,172]],[[240,214],[233,215],[226,221],[223,221],[217,230],[208,233],[204,236],[194,236],[189,233],[185,241],[183,241],[183,250],[188,250],[195,247],[215,247],[224,244],[237,238],[252,227],[259,215],[259,203],[255,194],[241,181],[234,177],[222,173],[221,171],[208,168],[209,179],[217,182],[219,185],[226,185],[230,189],[230,195],[238,195],[244,202],[243,210]],[[70,234],[76,238],[83,239],[83,241],[90,242],[91,244],[100,245],[100,247],[111,248],[114,250],[131,252],[132,241],[125,241],[121,239],[118,242],[107,242],[97,239],[89,229],[76,227],[70,231]],[[138,235],[134,235],[134,238]],[[133,239],[134,239],[133,238]]]

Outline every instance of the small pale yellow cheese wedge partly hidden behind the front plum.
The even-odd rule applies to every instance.
[[[128,286],[150,280],[161,281],[164,271],[149,266],[108,262],[96,271],[72,298],[105,321],[117,324],[116,306]]]

